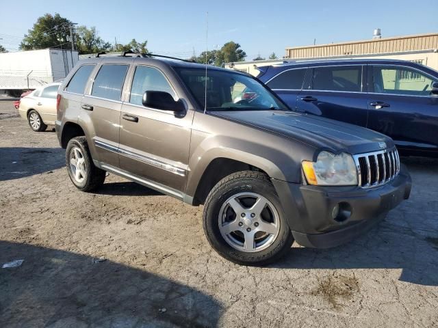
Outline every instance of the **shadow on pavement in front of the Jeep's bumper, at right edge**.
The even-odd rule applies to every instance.
[[[438,286],[438,159],[402,157],[413,180],[409,200],[363,236],[332,249],[294,247],[272,267],[400,269],[400,280]]]

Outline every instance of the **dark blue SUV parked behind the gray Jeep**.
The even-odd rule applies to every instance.
[[[261,67],[295,111],[389,135],[401,154],[438,157],[438,72],[411,61],[344,59]]]

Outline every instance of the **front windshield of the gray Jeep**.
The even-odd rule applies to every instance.
[[[175,68],[201,108],[207,111],[287,110],[287,107],[256,79],[244,74],[205,68]]]

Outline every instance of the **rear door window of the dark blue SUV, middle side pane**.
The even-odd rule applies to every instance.
[[[317,67],[313,68],[312,90],[360,92],[362,85],[362,67]]]

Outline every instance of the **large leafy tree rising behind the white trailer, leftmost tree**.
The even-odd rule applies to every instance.
[[[68,47],[71,21],[60,14],[44,14],[29,29],[20,44],[22,50],[44,49],[49,47]]]

